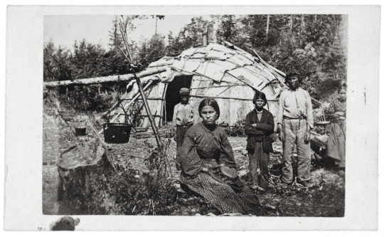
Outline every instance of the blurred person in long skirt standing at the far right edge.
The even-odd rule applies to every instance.
[[[338,168],[346,167],[346,84],[338,88],[338,98],[331,102],[328,112],[331,123],[326,125],[329,137],[326,155],[335,160]]]

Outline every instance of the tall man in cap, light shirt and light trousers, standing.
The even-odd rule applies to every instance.
[[[292,72],[286,77],[289,89],[282,91],[279,100],[277,125],[279,138],[283,142],[282,185],[293,182],[292,154],[294,144],[297,146],[297,182],[309,187],[311,171],[311,148],[309,140],[314,127],[311,96],[306,90],[299,88],[299,73]]]

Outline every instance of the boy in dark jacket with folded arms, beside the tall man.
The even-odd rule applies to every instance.
[[[247,138],[247,151],[250,158],[250,181],[253,188],[265,190],[270,186],[270,152],[273,152],[270,135],[274,131],[273,115],[263,107],[267,104],[265,94],[257,91],[252,100],[255,110],[247,114],[245,118],[245,134]],[[260,179],[257,176],[257,168],[260,168]]]

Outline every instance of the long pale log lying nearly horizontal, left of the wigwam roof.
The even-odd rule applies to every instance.
[[[154,75],[157,73],[165,72],[166,68],[156,68],[151,70],[144,70],[141,73],[137,73],[137,77],[144,78],[149,75]],[[87,79],[78,79],[78,80],[58,80],[58,81],[51,81],[44,83],[44,88],[54,88],[59,85],[92,85],[92,84],[101,84],[101,83],[112,83],[120,81],[127,81],[127,80],[134,80],[133,74],[126,74],[126,75],[110,75],[108,77],[101,77],[101,78],[87,78]]]

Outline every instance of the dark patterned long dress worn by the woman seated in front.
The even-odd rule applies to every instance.
[[[236,169],[232,147],[221,127],[208,130],[201,122],[191,127],[181,147],[180,163],[181,183],[203,196],[221,213],[264,214],[255,191],[249,186],[236,192],[228,184],[202,172],[203,167],[208,169],[218,164]]]

